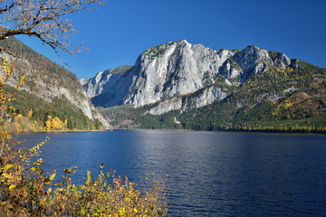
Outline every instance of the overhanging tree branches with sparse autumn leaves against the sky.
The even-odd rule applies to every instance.
[[[0,40],[20,34],[34,36],[58,55],[58,49],[73,55],[82,51],[82,45],[75,50],[69,47],[68,38],[76,32],[69,15],[103,4],[104,0],[1,0]]]

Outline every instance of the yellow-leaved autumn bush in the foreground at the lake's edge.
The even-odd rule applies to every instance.
[[[64,169],[62,182],[54,183],[56,170],[44,175],[43,160],[32,163],[40,148],[49,139],[30,149],[19,148],[13,132],[5,127],[13,109],[6,103],[12,100],[4,86],[13,75],[13,68],[4,61],[5,78],[0,79],[0,213],[2,216],[166,216],[163,182],[155,182],[149,191],[140,192],[136,184],[115,178],[113,172],[101,170],[95,179],[88,172],[84,184],[72,184],[75,168]],[[15,89],[23,84],[19,82]],[[101,165],[103,169],[104,165]]]

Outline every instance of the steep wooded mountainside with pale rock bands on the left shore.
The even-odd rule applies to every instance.
[[[59,117],[62,122],[71,118],[72,128],[90,127],[95,118],[101,118],[93,111],[91,102],[84,96],[81,84],[71,71],[34,52],[14,37],[0,43],[17,55],[0,52],[1,58],[14,62],[14,76],[8,84],[15,86],[17,80],[26,77],[26,83],[17,93],[17,100],[11,103],[18,111],[23,114],[33,111],[34,120],[38,117],[39,122],[45,122],[47,116]]]

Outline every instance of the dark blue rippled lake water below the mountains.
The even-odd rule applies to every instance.
[[[106,163],[145,183],[167,180],[169,216],[326,216],[326,137],[159,130],[23,134],[44,168],[77,165],[73,182]]]

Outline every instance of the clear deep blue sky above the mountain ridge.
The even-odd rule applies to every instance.
[[[324,0],[115,0],[89,13],[74,14],[79,33],[73,44],[90,51],[62,61],[78,78],[123,64],[133,65],[149,47],[186,39],[214,50],[256,45],[289,58],[326,68],[326,1]],[[21,41],[60,63],[37,40]]]

